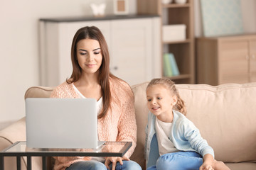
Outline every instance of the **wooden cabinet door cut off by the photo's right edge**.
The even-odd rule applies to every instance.
[[[256,82],[256,39],[250,41],[250,82]]]

